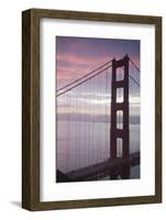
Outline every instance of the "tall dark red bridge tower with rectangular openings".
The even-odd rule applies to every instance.
[[[118,80],[117,69],[122,68],[124,77]],[[129,139],[129,56],[122,59],[112,61],[112,81],[111,81],[111,132],[110,132],[110,158],[118,157],[118,139],[122,143],[122,158],[130,157]],[[122,89],[123,101],[118,100],[118,89]],[[122,128],[118,128],[118,111],[122,114]]]

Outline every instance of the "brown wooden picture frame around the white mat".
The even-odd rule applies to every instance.
[[[40,201],[40,19],[155,25],[155,196]],[[162,18],[30,9],[22,13],[22,207],[27,210],[107,207],[162,201]]]

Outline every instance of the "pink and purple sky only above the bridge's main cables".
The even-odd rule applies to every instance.
[[[125,54],[140,67],[140,41],[56,36],[57,88]]]

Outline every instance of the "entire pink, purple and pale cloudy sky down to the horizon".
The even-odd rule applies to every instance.
[[[56,36],[55,58],[57,89],[85,76],[87,73],[96,69],[112,58],[120,59],[126,54],[140,68],[140,41],[137,40]],[[131,69],[130,75],[140,81],[140,73],[133,69],[134,68]],[[120,74],[121,73],[122,70]],[[111,78],[109,78],[109,84],[110,80]],[[67,95],[57,98],[57,106],[60,107],[58,108],[59,113],[66,114],[70,111],[74,114],[76,112],[75,106],[77,99],[77,101],[84,103],[81,110],[79,110],[82,116],[91,113],[98,116],[99,112],[97,106],[99,106],[99,101],[103,105],[110,105],[110,90],[104,90],[104,85],[108,84],[106,77],[100,78],[100,86],[98,81],[98,79],[92,79],[90,82],[87,82],[87,86],[84,85],[69,91],[70,103],[73,103],[70,107],[68,107],[66,101]],[[91,90],[91,87],[93,90]],[[81,88],[84,89],[80,92],[78,89]],[[79,97],[78,94],[80,94]],[[135,105],[132,114],[137,117],[140,112],[140,88],[136,88],[135,85],[130,89],[130,100]],[[88,105],[91,105],[95,108],[89,108]],[[102,111],[102,114],[107,114],[107,112]]]

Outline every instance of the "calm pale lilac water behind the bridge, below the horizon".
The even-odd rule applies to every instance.
[[[86,167],[110,157],[110,123],[57,121],[56,166],[63,173]],[[140,124],[130,124],[130,153],[140,151]],[[121,148],[118,148],[121,155]],[[131,177],[140,177],[140,165]]]

